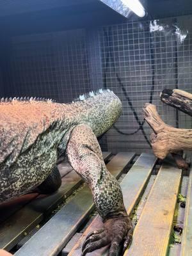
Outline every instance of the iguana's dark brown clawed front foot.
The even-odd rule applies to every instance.
[[[90,233],[84,241],[81,256],[110,244],[109,255],[123,255],[132,240],[132,223],[128,216],[118,216],[104,221],[104,227]]]

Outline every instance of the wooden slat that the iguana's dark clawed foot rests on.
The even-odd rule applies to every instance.
[[[124,179],[121,182],[122,193],[124,195],[124,204],[127,209],[127,213],[131,214],[134,209],[134,205],[136,205],[139,196],[141,195],[143,189],[145,188],[145,184],[152,173],[154,165],[156,164],[156,157],[152,154],[141,154],[136,163],[132,166],[131,170],[127,173]],[[102,220],[100,216],[94,218],[91,225],[85,230],[83,236],[79,241],[74,245],[71,252],[68,256],[79,256],[81,255],[81,248],[84,243],[84,239],[86,236],[90,234],[93,230],[99,229],[102,227]],[[108,246],[100,248],[89,255],[107,255],[108,254]]]

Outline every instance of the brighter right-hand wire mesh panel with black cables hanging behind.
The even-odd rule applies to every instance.
[[[157,106],[167,124],[192,126],[189,116],[159,100],[164,88],[192,92],[191,30],[184,26],[190,19],[161,20],[161,26],[129,22],[100,29],[104,85],[123,102],[123,114],[108,132],[110,150],[148,151],[151,131],[142,115],[146,102]]]

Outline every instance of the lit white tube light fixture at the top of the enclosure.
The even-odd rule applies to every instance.
[[[144,17],[147,12],[139,0],[100,0],[102,3],[107,4],[110,8],[128,18],[131,11],[139,17]]]

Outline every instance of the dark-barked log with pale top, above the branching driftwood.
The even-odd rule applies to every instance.
[[[182,90],[164,89],[160,95],[161,100],[180,111],[192,116],[192,94]]]

